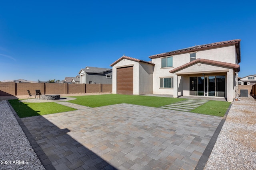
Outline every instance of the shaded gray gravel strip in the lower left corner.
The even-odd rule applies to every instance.
[[[6,100],[0,101],[0,169],[45,170]]]

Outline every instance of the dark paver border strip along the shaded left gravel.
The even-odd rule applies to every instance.
[[[12,105],[9,103],[8,100],[6,100],[6,102],[9,105],[10,109],[12,110],[12,113],[14,114],[15,118],[17,119],[22,131],[25,133],[31,147],[33,148],[34,152],[36,152],[36,155],[38,156],[41,164],[44,166],[44,168],[46,170],[55,170],[54,166],[52,165],[52,163],[48,159],[48,156],[46,156],[46,154],[44,153],[42,148],[38,145],[38,143],[36,142],[36,140],[34,139],[32,134],[30,133],[28,128],[24,125],[23,121],[20,119],[20,117],[18,116],[16,111],[13,109]],[[39,153],[40,153],[40,155],[39,155]],[[48,162],[48,163],[46,164],[44,162]]]

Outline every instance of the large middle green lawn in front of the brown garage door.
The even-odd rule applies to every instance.
[[[133,96],[123,94],[104,94],[93,96],[75,96],[76,100],[70,100],[68,102],[74,104],[80,104],[88,107],[100,107],[112,104],[136,104],[141,106],[159,107],[167,104],[179,102],[185,99],[179,98],[164,98],[154,96]]]

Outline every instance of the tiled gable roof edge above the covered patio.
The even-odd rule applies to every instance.
[[[215,64],[215,65],[219,65],[219,66],[232,67],[232,68],[235,68],[236,72],[240,71],[240,65],[239,64],[232,64],[232,63],[226,63],[226,62],[214,61],[214,60],[208,60],[208,59],[196,59],[196,60],[191,61],[189,63],[186,63],[182,66],[174,68],[174,69],[170,70],[169,72],[174,73],[174,72],[177,72],[178,70],[182,70],[185,67],[188,67],[192,64],[199,63],[199,62],[200,63],[206,63],[206,64]]]

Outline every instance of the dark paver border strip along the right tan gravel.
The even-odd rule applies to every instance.
[[[210,139],[208,145],[206,146],[202,156],[200,157],[197,165],[196,165],[196,168],[194,170],[204,170],[204,167],[207,163],[207,160],[208,158],[210,157],[210,154],[212,152],[212,149],[217,141],[217,138],[220,134],[220,131],[222,129],[222,126],[224,125],[225,121],[226,121],[226,118],[227,118],[227,115],[228,115],[228,112],[230,110],[232,106],[232,103],[230,104],[230,106],[228,107],[224,117],[222,118],[222,120],[220,121],[220,124],[218,125],[218,127],[216,128],[214,134],[212,135],[212,138]]]

